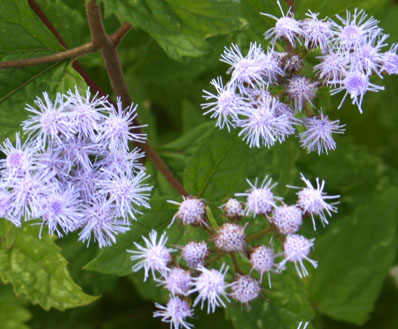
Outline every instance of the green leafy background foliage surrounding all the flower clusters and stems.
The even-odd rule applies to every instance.
[[[89,41],[83,2],[37,3],[69,46]],[[124,22],[133,26],[119,53],[128,87],[139,104],[138,116],[149,124],[144,128],[148,141],[190,194],[209,201],[219,223],[218,206],[247,189],[246,178],[269,174],[279,182],[277,194],[293,200],[294,193],[285,185],[300,185],[303,172],[325,179],[328,192],[341,195],[338,214],[316,232],[317,270],[300,280],[289,269],[286,276],[273,280],[272,289],[250,310],[234,304],[225,314],[197,314],[195,328],[293,329],[301,320],[311,320],[309,328],[393,328],[394,308],[387,314],[383,310],[396,305],[398,291],[396,77],[385,78],[384,92],[365,97],[363,115],[349,102],[337,111],[339,100],[324,101],[322,106],[330,107],[331,116],[347,124],[337,150],[328,156],[306,154],[292,137],[272,149],[250,149],[236,134],[219,130],[202,116],[202,89],[209,88],[211,78],[225,75],[226,66],[218,60],[224,46],[236,42],[245,49],[252,40],[267,44],[262,33],[273,22],[260,12],[278,14],[276,4],[260,0],[100,3],[108,32]],[[357,6],[375,15],[398,41],[394,1],[295,1],[299,17],[308,9],[333,16]],[[0,0],[0,61],[63,50],[28,1]],[[80,62],[112,96],[99,55]],[[75,85],[80,90],[87,86],[70,61],[0,70],[0,140],[12,139],[19,131],[27,117],[25,104],[32,104],[44,91],[55,95]],[[43,234],[39,239],[37,225],[19,229],[0,220],[2,328],[161,327],[152,319],[152,302],[165,302],[167,296],[155,282],[143,284],[141,274],[132,273],[126,249],[141,243],[141,236],[153,228],[166,230],[176,212],[167,200],[180,201],[180,197],[153,163],[148,160],[146,167],[154,186],[151,209],[143,209],[131,230],[101,251],[95,245],[87,249],[73,238],[57,240]],[[313,234],[311,230],[308,221],[304,234]],[[200,233],[177,225],[168,232],[172,245],[201,238]]]

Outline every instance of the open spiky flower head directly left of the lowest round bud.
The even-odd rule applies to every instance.
[[[214,313],[216,307],[226,307],[224,299],[229,301],[226,289],[229,286],[225,283],[225,274],[228,271],[228,266],[224,264],[221,266],[220,271],[215,269],[209,270],[203,266],[198,267],[201,274],[193,279],[193,289],[191,293],[198,293],[193,306],[201,303],[200,308],[203,309],[205,301],[207,301],[207,313]]]

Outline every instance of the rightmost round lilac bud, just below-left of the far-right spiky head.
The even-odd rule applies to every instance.
[[[295,233],[303,223],[302,211],[296,206],[282,205],[276,207],[272,214],[272,223],[283,234]]]

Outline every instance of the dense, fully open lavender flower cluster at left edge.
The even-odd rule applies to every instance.
[[[151,187],[140,163],[144,154],[129,142],[144,142],[133,132],[136,106],[114,107],[87,90],[47,93],[27,105],[13,144],[0,145],[0,217],[47,227],[62,237],[80,229],[79,240],[94,238],[100,248],[130,229],[139,208],[149,208]]]

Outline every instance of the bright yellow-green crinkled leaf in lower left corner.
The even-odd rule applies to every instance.
[[[15,293],[25,295],[46,310],[65,310],[87,305],[98,297],[85,294],[73,282],[67,262],[54,237],[39,239],[40,227],[15,228],[0,222],[0,278],[11,283]]]

